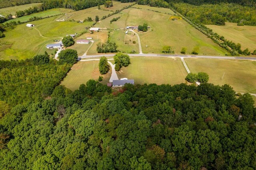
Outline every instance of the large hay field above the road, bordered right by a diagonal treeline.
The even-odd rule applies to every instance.
[[[175,53],[180,53],[182,47],[186,47],[187,52],[190,53],[195,46],[200,47],[200,55],[228,53],[184,20],[173,21],[169,18],[170,15],[167,14],[132,9],[128,12],[125,25],[148,23],[151,27],[148,32],[138,33],[143,53],[161,53],[164,45],[173,46]]]

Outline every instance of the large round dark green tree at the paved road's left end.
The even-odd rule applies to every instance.
[[[58,59],[60,64],[70,63],[74,64],[78,58],[77,51],[74,49],[65,49],[60,51]]]

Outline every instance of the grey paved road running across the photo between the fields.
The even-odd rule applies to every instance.
[[[81,58],[97,58],[97,57],[113,57],[115,54],[98,54],[98,55],[86,55],[79,56]],[[254,60],[256,57],[226,57],[226,56],[204,56],[204,55],[171,55],[171,54],[128,54],[131,57],[178,57],[178,58],[210,58],[210,59],[242,59],[242,60]]]

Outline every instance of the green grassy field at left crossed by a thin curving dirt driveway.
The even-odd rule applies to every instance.
[[[47,50],[46,44],[53,43],[53,40],[60,40],[67,34],[80,33],[92,22],[79,24],[77,22],[56,22],[55,17],[34,21],[34,28],[26,27],[26,24],[16,26],[14,30],[5,32],[6,37],[1,38],[2,42],[9,42],[11,45],[0,47],[0,59],[26,59],[38,53],[47,51],[49,54],[54,50]],[[41,34],[41,36],[40,36]]]

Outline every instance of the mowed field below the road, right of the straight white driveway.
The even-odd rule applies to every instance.
[[[229,84],[237,93],[256,93],[256,61],[222,59],[185,59],[185,61],[192,73],[208,73],[209,83]],[[221,79],[223,74],[224,77]]]

